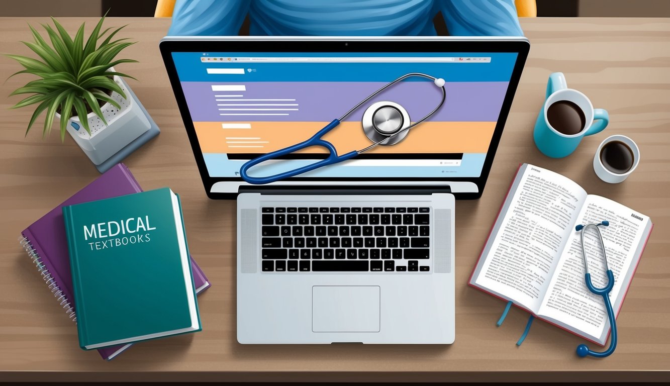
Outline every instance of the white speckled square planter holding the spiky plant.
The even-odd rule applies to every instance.
[[[86,119],[90,128],[89,135],[79,117],[72,117],[68,121],[68,133],[96,166],[103,164],[109,157],[151,128],[149,119],[133,94],[129,92],[127,84],[118,76],[114,76],[114,81],[119,84],[127,99],[117,92],[112,92],[110,97],[121,105],[121,110],[109,103],[100,107],[107,125],[95,113],[88,114]],[[60,115],[56,116],[60,119]]]

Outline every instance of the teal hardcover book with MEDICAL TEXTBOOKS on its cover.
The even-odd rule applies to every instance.
[[[200,331],[182,206],[170,188],[63,207],[84,350]]]

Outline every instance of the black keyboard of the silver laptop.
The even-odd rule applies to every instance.
[[[264,272],[430,271],[430,208],[263,207]]]

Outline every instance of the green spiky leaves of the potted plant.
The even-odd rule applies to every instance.
[[[135,78],[112,68],[123,63],[135,63],[137,60],[115,60],[121,51],[134,43],[127,42],[127,38],[113,40],[125,25],[103,29],[105,16],[100,18],[88,36],[84,34],[83,23],[72,37],[53,17],[51,18],[53,26],[42,25],[46,31],[45,36],[32,25],[28,25],[33,41],[23,44],[37,57],[6,55],[23,67],[23,70],[15,72],[9,76],[10,78],[19,74],[31,74],[37,77],[10,94],[29,94],[11,106],[11,109],[37,106],[28,122],[26,135],[36,119],[45,111],[43,137],[50,133],[54,117],[60,109],[60,137],[63,141],[67,122],[73,115],[79,117],[82,126],[90,135],[86,119],[87,110],[93,111],[107,124],[100,104],[109,103],[121,109],[119,103],[111,98],[110,92],[117,92],[123,98],[126,98],[126,95],[121,86],[113,80],[113,76]]]

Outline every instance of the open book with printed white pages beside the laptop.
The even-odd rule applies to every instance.
[[[514,302],[592,342],[604,345],[610,332],[602,296],[584,281],[578,224],[608,220],[599,227],[614,273],[610,301],[618,315],[653,224],[648,216],[608,198],[586,194],[568,178],[523,164],[500,208],[470,285]],[[598,236],[584,234],[588,270],[596,287],[607,283]]]

